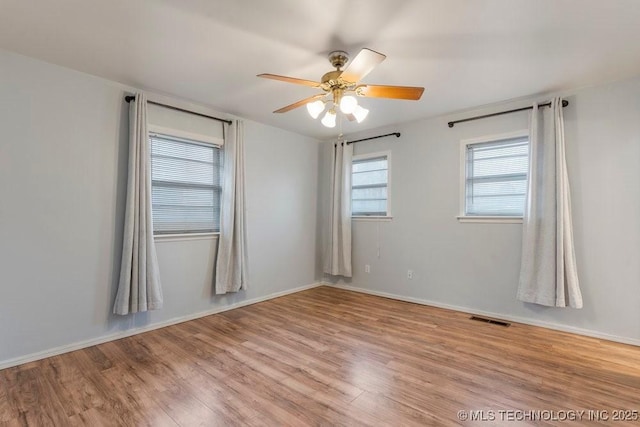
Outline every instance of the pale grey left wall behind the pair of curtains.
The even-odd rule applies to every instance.
[[[250,288],[212,294],[215,240],[161,241],[165,307],[112,315],[126,92],[0,51],[0,366],[316,281],[318,144],[245,121]]]

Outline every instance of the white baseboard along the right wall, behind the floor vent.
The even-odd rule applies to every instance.
[[[436,301],[431,301],[431,300],[426,300],[421,298],[406,297],[403,295],[390,294],[387,292],[374,291],[370,289],[358,288],[355,286],[334,284],[334,283],[327,283],[327,282],[323,282],[321,284],[324,286],[331,286],[334,288],[345,289],[348,291],[360,292],[363,294],[375,295],[375,296],[384,297],[384,298],[391,298],[399,301],[412,302],[415,304],[428,305],[431,307],[446,308],[448,310],[460,311],[462,313],[492,317],[495,319],[503,319],[503,320],[508,320],[510,322],[523,323],[525,325],[539,326],[542,328],[553,329],[561,332],[569,332],[572,334],[584,335],[587,337],[604,339],[607,341],[614,341],[622,344],[640,346],[640,339],[620,337],[617,335],[606,334],[604,332],[593,331],[590,329],[583,329],[583,328],[577,328],[574,326],[561,325],[558,323],[545,322],[543,320],[536,320],[536,319],[531,319],[527,317],[510,316],[503,313],[493,313],[490,311],[476,310],[468,307],[460,307],[457,305],[444,304],[441,302],[436,302]]]

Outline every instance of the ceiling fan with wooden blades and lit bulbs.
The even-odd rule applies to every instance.
[[[337,50],[329,54],[329,62],[331,62],[331,65],[336,69],[325,73],[320,79],[320,82],[279,76],[277,74],[258,74],[258,77],[322,89],[322,93],[294,102],[293,104],[274,111],[274,113],[286,113],[287,111],[306,105],[311,117],[317,119],[325,110],[327,104],[330,104],[329,110],[327,110],[322,118],[322,124],[332,128],[336,125],[336,108],[339,108],[349,120],[356,120],[358,123],[362,122],[367,117],[367,114],[369,114],[369,110],[358,105],[358,100],[353,95],[366,98],[391,98],[414,101],[420,99],[424,92],[423,87],[384,86],[359,83],[360,80],[369,74],[376,65],[384,61],[385,58],[386,56],[381,53],[364,48],[360,50],[349,66],[342,70],[344,65],[349,61],[349,55],[346,52]]]

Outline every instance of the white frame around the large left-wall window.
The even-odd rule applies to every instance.
[[[202,139],[203,135],[196,133],[189,133],[179,129],[173,129],[163,126],[157,125],[148,125],[147,126],[147,139],[149,141],[149,162],[151,162],[151,136],[158,135],[175,139],[183,139],[189,140],[194,144],[204,145],[204,146],[212,146],[217,148],[218,150],[222,150],[224,147],[224,140],[220,138],[207,138],[206,140]],[[222,152],[220,153],[221,161],[222,161]],[[222,163],[220,164],[222,168]],[[151,169],[149,171],[151,172]],[[222,173],[222,170],[220,170]],[[153,176],[150,177],[152,180],[151,183],[151,191],[153,191]],[[221,198],[222,198],[222,189],[221,189]],[[206,232],[194,232],[194,233],[184,233],[184,232],[169,232],[169,233],[159,233],[157,234],[155,229],[153,230],[153,239],[155,241],[180,241],[180,240],[202,240],[202,239],[218,239],[220,236],[219,231],[206,231]]]

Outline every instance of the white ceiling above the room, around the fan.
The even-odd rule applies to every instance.
[[[256,78],[319,80],[326,55],[369,47],[363,81],[424,86],[420,101],[361,99],[350,133],[640,75],[638,0],[0,0],[0,47],[325,138],[317,93]]]

